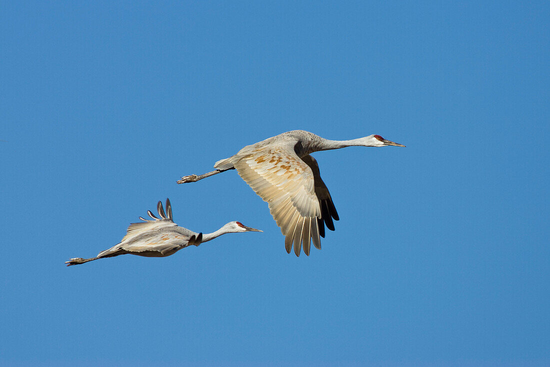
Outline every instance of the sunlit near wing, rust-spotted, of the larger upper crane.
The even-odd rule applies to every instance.
[[[294,253],[300,256],[302,244],[306,255],[310,253],[311,241],[321,248],[318,222],[321,207],[312,169],[296,155],[295,144],[296,140],[289,140],[256,148],[235,163],[235,168],[256,194],[267,201],[271,215],[286,236],[287,253],[294,244]]]

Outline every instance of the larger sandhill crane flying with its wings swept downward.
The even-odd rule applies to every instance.
[[[327,140],[304,130],[294,130],[245,146],[237,154],[216,162],[216,171],[191,174],[178,183],[196,182],[237,169],[239,176],[268,202],[271,215],[286,236],[285,249],[300,256],[302,244],[309,256],[310,244],[321,249],[324,226],[334,231],[338,213],[321,179],[317,161],[310,154],[346,146],[404,146],[380,135],[353,140]],[[323,224],[324,223],[324,224]]]

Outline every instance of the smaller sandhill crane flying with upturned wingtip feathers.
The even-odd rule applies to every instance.
[[[148,210],[147,214],[149,214],[152,220],[146,220],[139,217],[145,222],[131,223],[128,227],[127,234],[120,243],[108,250],[101,251],[95,258],[73,258],[65,262],[65,264],[67,264],[67,266],[78,265],[92,260],[112,258],[113,256],[125,254],[147,256],[148,258],[163,258],[164,256],[174,254],[184,247],[190,245],[198,246],[222,234],[263,232],[260,229],[246,227],[241,222],[229,222],[216,232],[208,234],[196,233],[187,228],[179,227],[178,224],[174,223],[170,200],[166,199],[166,213],[168,215],[164,214],[161,201],[157,204],[157,210],[160,218],[157,218]]]

